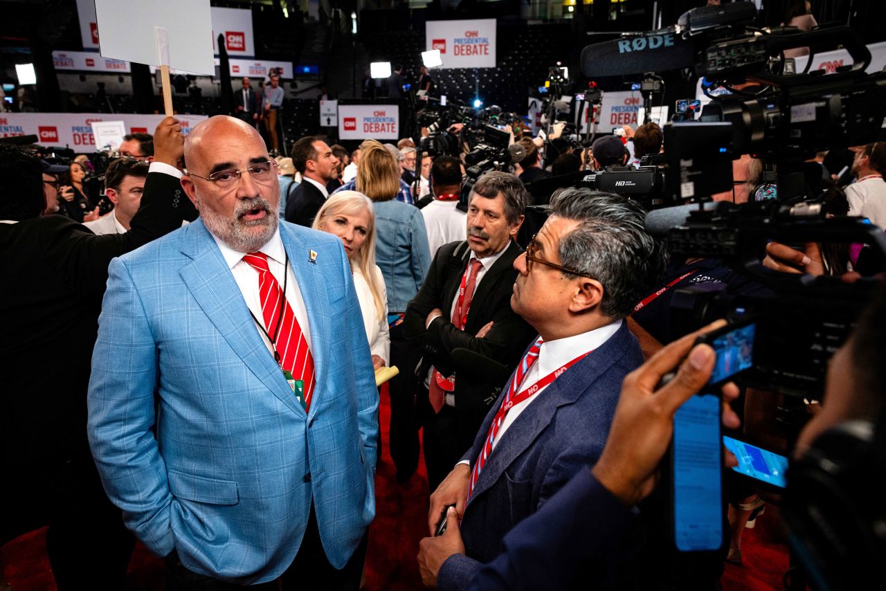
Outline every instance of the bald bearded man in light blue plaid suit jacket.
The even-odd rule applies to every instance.
[[[201,219],[110,268],[89,383],[105,491],[165,556],[166,588],[357,589],[378,395],[344,249],[278,226],[276,164],[242,121],[201,122],[185,159]],[[307,405],[245,253],[267,256],[307,340]]]

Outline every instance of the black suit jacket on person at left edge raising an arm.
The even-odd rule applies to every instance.
[[[125,234],[96,236],[61,215],[0,224],[0,438],[11,494],[27,500],[27,487],[66,461],[92,464],[86,391],[108,265],[180,228],[189,211],[177,178],[150,173]]]

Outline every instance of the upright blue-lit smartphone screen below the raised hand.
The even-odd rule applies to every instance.
[[[696,394],[673,420],[673,540],[680,552],[723,545],[720,399]]]

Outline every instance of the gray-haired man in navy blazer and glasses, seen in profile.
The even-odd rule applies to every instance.
[[[550,205],[514,263],[511,299],[540,337],[474,446],[431,494],[431,535],[448,505],[462,518],[465,552],[440,567],[443,589],[468,587],[511,528],[596,462],[622,380],[643,361],[623,319],[664,270],[665,255],[643,228],[641,206],[583,189],[559,191]]]

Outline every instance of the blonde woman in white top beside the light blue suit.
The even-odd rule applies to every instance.
[[[376,215],[372,201],[357,191],[339,191],[326,200],[314,219],[314,229],[341,238],[354,273],[363,324],[369,338],[374,369],[390,361],[387,291],[376,265]]]

